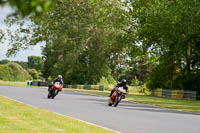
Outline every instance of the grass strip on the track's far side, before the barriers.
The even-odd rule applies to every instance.
[[[200,113],[200,101],[192,100],[182,100],[182,99],[171,99],[171,98],[162,98],[145,95],[141,93],[140,88],[130,89],[129,95],[126,96],[126,100],[139,102],[169,109],[176,109],[186,112],[195,112]],[[96,91],[96,90],[83,90],[83,89],[68,89],[78,92],[83,92],[87,94],[100,95],[108,97],[110,91]]]

